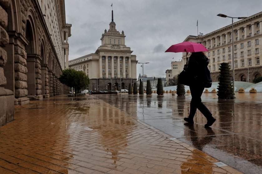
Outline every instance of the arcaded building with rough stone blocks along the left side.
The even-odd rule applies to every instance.
[[[58,78],[70,27],[64,0],[0,0],[0,125],[12,121],[14,104],[69,91]]]

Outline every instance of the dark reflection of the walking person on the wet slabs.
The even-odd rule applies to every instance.
[[[201,131],[195,130],[194,126],[196,126],[196,124],[185,123],[184,125],[188,128],[188,129],[185,129],[185,131],[186,130],[189,131],[190,139],[191,139],[193,147],[195,147],[198,150],[202,151],[203,147],[206,144],[210,144],[213,138],[216,136],[215,132],[212,130],[211,127],[208,127],[205,129],[206,135],[198,135],[197,132],[201,132]],[[185,132],[185,134],[187,133]],[[188,135],[185,135],[185,136],[188,136]]]

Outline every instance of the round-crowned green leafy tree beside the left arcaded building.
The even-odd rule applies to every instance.
[[[62,75],[59,77],[62,84],[75,88],[75,96],[77,91],[87,88],[89,78],[83,71],[76,71],[74,69],[63,70]]]

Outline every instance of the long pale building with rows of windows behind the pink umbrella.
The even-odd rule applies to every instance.
[[[235,81],[252,82],[254,78],[262,75],[260,65],[262,12],[237,21],[233,25],[233,33],[230,24],[205,35],[189,35],[184,41],[201,43],[209,50],[206,56],[209,58],[209,69],[213,81],[218,81],[220,63],[228,62],[230,67],[232,66],[232,49],[234,49]],[[232,39],[234,40],[233,48]],[[186,53],[183,53],[183,64],[189,56],[190,54],[186,56]]]

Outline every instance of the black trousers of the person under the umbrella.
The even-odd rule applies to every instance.
[[[196,109],[198,109],[206,117],[207,120],[212,118],[211,112],[201,102],[201,95],[205,87],[195,85],[195,86],[189,86],[189,88],[190,88],[192,99],[190,102],[190,113],[188,117],[193,119],[196,113]]]

